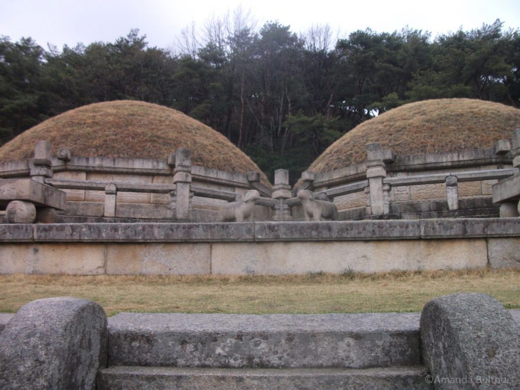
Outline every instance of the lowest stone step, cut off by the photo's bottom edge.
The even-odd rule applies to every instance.
[[[371,369],[177,368],[113,366],[98,374],[98,390],[426,390],[422,366]]]

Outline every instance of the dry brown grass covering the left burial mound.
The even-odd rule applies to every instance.
[[[191,149],[192,163],[232,172],[261,172],[222,134],[189,116],[142,101],[118,100],[67,111],[20,134],[0,148],[0,161],[31,158],[34,142],[45,139],[75,155],[165,159]],[[268,185],[267,177],[262,181]]]

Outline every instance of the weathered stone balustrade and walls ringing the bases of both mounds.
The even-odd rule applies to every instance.
[[[294,189],[287,170],[275,172],[271,189],[261,183],[258,172],[232,173],[192,165],[188,149],[179,149],[164,161],[77,157],[69,149],[59,149],[53,158],[46,141],[36,143],[31,160],[0,163],[0,177],[27,176],[66,191],[64,214],[70,216],[207,222],[216,220],[223,202],[235,201],[251,189],[259,193],[256,220],[301,219],[296,193],[303,189],[333,200],[340,219],[348,219],[392,214],[404,202],[444,200],[448,211],[457,211],[460,199],[490,199],[491,186],[503,180],[501,186],[509,189],[496,186],[493,202],[501,204],[502,216],[517,216],[512,202],[517,201],[518,134],[520,129],[513,132],[512,147],[509,140],[499,140],[489,150],[414,156],[398,156],[372,143],[367,145],[366,162],[331,172],[305,171]],[[341,215],[357,209],[357,214]]]

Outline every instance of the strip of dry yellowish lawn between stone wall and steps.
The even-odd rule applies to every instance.
[[[0,312],[51,296],[98,302],[121,311],[178,313],[366,313],[419,311],[427,301],[482,292],[520,308],[520,269],[301,276],[0,275]]]

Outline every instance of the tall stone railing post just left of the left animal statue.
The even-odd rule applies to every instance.
[[[175,151],[175,219],[191,219],[191,150],[179,148]]]

